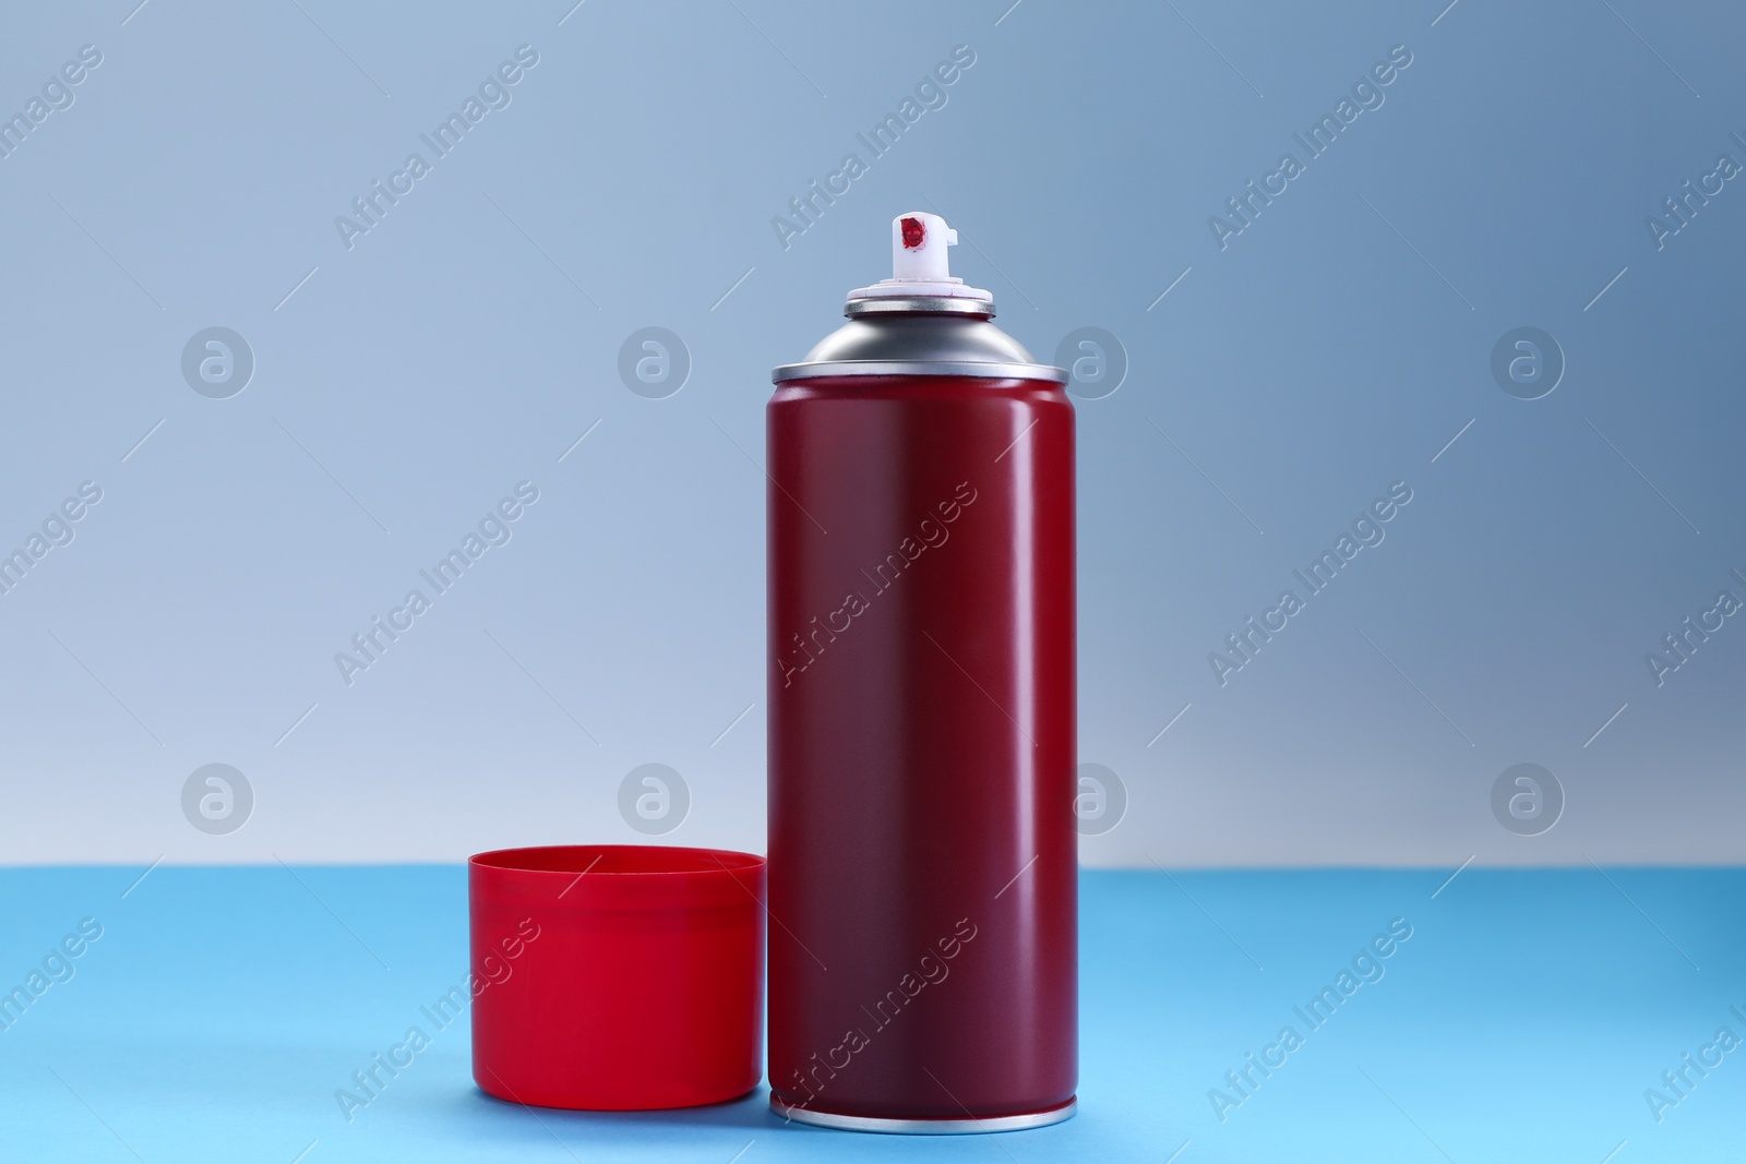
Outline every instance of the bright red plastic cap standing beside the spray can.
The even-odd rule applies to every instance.
[[[765,859],[566,845],[468,862],[473,1078],[499,1099],[629,1112],[763,1075]]]

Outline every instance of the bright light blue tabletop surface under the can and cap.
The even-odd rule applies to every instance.
[[[335,1089],[409,1026],[431,1033],[419,1007],[466,972],[463,869],[159,867],[129,892],[138,876],[0,874],[7,988],[82,918],[103,927],[0,1033],[9,1164],[1107,1162],[1184,1143],[1180,1164],[1598,1164],[1622,1141],[1617,1164],[1739,1159],[1746,1047],[1659,1124],[1643,1098],[1720,1026],[1746,1035],[1729,1012],[1746,1010],[1739,869],[1467,869],[1440,890],[1447,871],[1088,871],[1081,1115],[999,1138],[784,1126],[761,1089],[674,1113],[531,1112],[473,1087],[464,1024],[347,1124]],[[1310,1031],[1292,1007],[1393,918],[1413,935],[1383,977]],[[1220,1124],[1208,1089],[1285,1024],[1303,1047]]]

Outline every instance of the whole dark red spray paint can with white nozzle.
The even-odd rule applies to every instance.
[[[896,218],[766,410],[770,1103],[829,1127],[1076,1106],[1074,410],[955,243]]]

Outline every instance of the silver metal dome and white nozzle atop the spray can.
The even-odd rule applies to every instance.
[[[993,297],[946,274],[957,230],[938,215],[892,220],[894,276],[849,293],[849,323],[800,363],[770,373],[777,384],[836,375],[969,375],[1067,382],[1025,346],[990,323]]]

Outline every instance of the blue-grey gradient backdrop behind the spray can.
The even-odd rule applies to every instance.
[[[690,789],[663,841],[761,850],[768,368],[908,209],[1039,358],[1081,326],[1126,354],[1079,407],[1081,757],[1130,801],[1088,864],[1746,852],[1743,620],[1666,686],[1643,660],[1746,599],[1746,181],[1645,227],[1746,162],[1737,7],[134,3],[0,37],[3,112],[103,54],[0,159],[0,550],[103,489],[0,595],[0,859],[639,841],[644,763]],[[524,44],[347,250],[333,218]],[[772,216],[960,44],[784,248]],[[1220,250],[1208,216],[1399,44]],[[182,375],[210,326],[253,351],[229,400]],[[693,361],[665,400],[618,375],[646,326]],[[1493,380],[1517,326],[1568,359],[1542,400]],[[346,686],[333,654],[522,480],[512,541]],[[1208,653],[1400,480],[1386,541],[1220,688]],[[227,834],[183,817],[211,763],[253,789]],[[1493,817],[1519,763],[1563,785],[1540,836]]]

